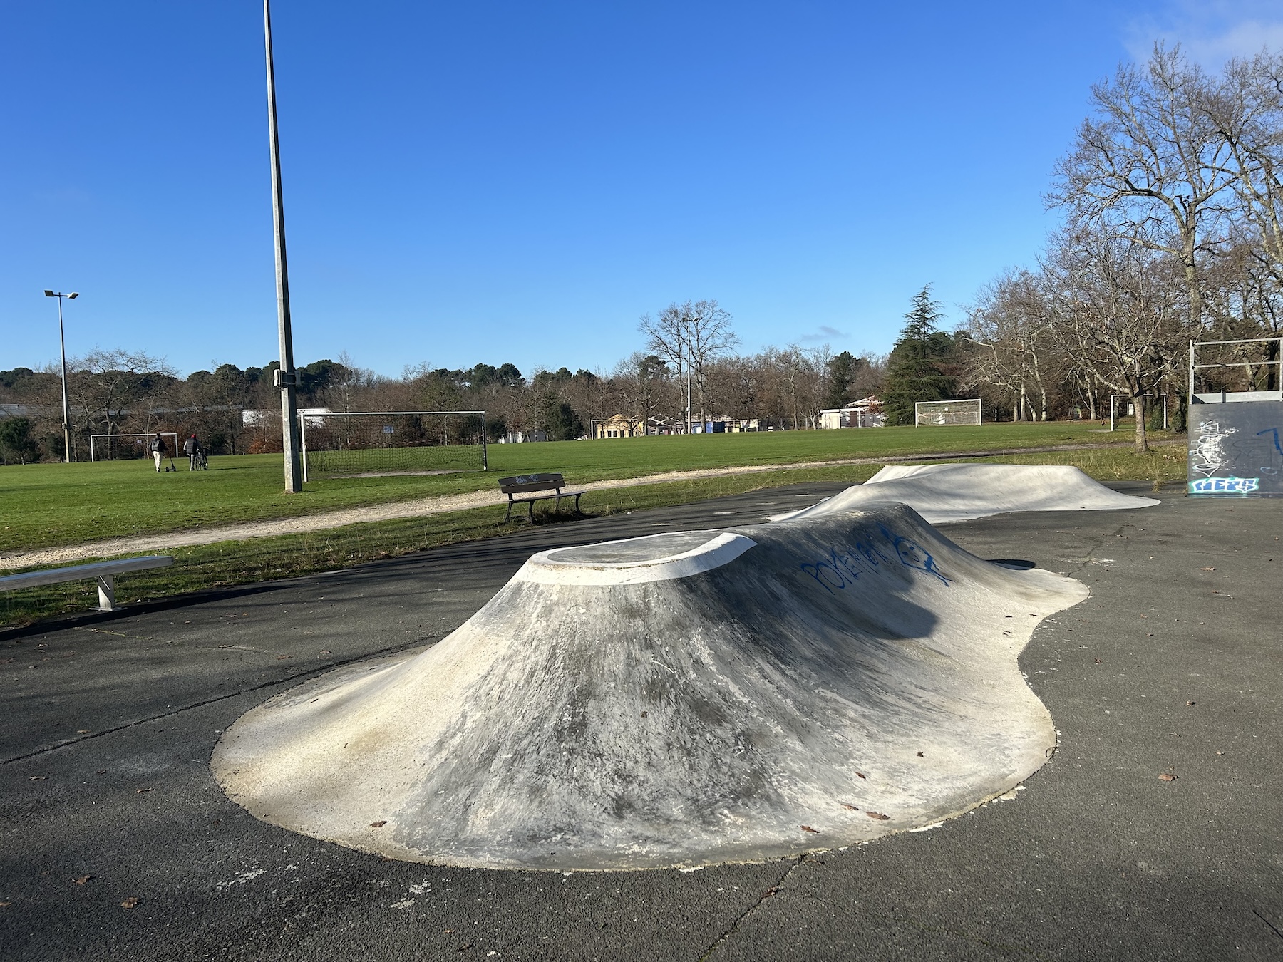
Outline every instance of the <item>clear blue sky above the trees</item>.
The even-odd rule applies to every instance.
[[[716,298],[884,351],[1035,255],[1091,83],[1277,4],[276,0],[295,357],[608,368]],[[276,355],[262,9],[0,0],[0,368]]]

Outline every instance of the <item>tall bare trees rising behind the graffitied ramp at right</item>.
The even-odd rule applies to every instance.
[[[1047,194],[1064,224],[956,332],[958,384],[1016,418],[1159,398],[1183,428],[1189,341],[1278,337],[1283,308],[1283,56],[1210,73],[1155,47],[1092,87],[1092,115]],[[1279,342],[1223,345],[1200,391],[1278,390]]]

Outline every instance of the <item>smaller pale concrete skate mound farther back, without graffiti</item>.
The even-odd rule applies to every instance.
[[[771,521],[813,517],[880,502],[911,505],[931,525],[1016,511],[1120,511],[1159,504],[1112,491],[1065,464],[887,466],[862,485]]]

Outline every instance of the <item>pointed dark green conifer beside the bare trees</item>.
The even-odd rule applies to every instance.
[[[881,401],[888,425],[912,425],[916,401],[953,396],[953,378],[947,373],[953,337],[937,328],[942,317],[940,303],[931,300],[931,285],[913,295],[913,307],[905,314],[907,323],[887,366]]]

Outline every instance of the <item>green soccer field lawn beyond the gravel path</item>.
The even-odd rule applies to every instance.
[[[1092,422],[772,431],[490,446],[489,472],[325,478],[282,491],[278,454],[212,458],[207,472],[157,473],[150,462],[0,467],[0,550],[262,521],[493,487],[500,475],[561,471],[571,485],[748,464],[786,464],[1055,444],[1128,441]],[[1143,475],[1142,475],[1143,476]]]

